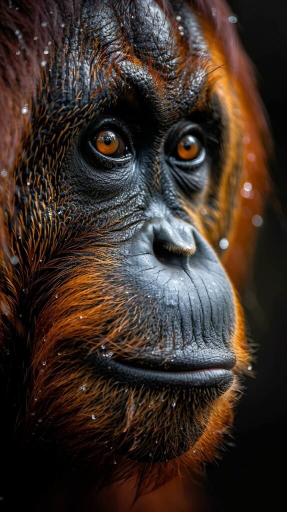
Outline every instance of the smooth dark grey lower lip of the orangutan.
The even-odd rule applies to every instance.
[[[228,390],[234,375],[225,368],[207,368],[184,372],[150,370],[124,364],[116,359],[94,356],[93,364],[101,373],[114,380],[133,385],[146,385],[154,388],[223,388]]]

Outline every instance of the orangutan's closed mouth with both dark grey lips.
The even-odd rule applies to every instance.
[[[113,358],[112,353],[94,352],[91,362],[101,374],[114,380],[153,388],[217,388],[225,392],[232,385],[235,356],[229,351],[194,354],[185,350],[167,357]]]

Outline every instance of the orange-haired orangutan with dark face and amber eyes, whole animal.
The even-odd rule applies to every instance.
[[[268,145],[235,22],[222,0],[0,2],[8,507],[162,496],[229,431]]]

